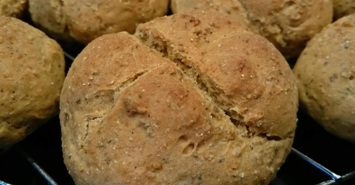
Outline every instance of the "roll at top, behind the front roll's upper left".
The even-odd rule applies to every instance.
[[[87,44],[109,33],[134,33],[139,23],[164,16],[169,0],[29,0],[35,24],[64,40]]]

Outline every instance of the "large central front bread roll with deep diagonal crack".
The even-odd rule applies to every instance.
[[[291,149],[297,89],[244,23],[182,13],[91,42],[60,107],[76,184],[268,184]]]

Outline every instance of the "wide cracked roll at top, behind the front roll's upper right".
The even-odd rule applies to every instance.
[[[172,0],[173,13],[219,10],[248,19],[286,57],[298,57],[306,42],[332,22],[331,0]]]

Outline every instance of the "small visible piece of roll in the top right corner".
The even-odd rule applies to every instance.
[[[333,6],[337,19],[355,12],[355,0],[333,0]]]

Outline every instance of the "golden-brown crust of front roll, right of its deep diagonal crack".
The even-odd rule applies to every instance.
[[[282,138],[292,135],[295,115],[274,116],[280,111],[295,113],[297,105],[295,79],[282,55],[267,40],[244,31],[243,23],[211,14],[190,12],[157,18],[138,26],[136,35],[149,47],[167,48],[170,60],[181,58],[185,65],[197,68],[193,75],[211,86],[210,93],[215,91],[211,96],[219,94],[218,102],[225,111],[233,110],[230,114],[243,117],[246,124],[260,123],[249,125],[253,132]],[[268,89],[270,81],[279,85]],[[280,102],[290,104],[280,108]]]

